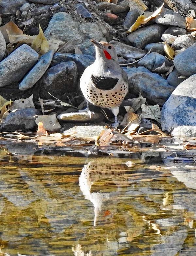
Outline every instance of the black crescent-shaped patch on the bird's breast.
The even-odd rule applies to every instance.
[[[118,83],[118,78],[91,75],[94,86],[100,90],[111,90]]]

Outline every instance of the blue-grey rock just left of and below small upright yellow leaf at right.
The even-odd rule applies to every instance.
[[[169,71],[172,63],[163,55],[157,52],[151,52],[138,62],[139,66],[144,66],[152,72],[165,73]]]

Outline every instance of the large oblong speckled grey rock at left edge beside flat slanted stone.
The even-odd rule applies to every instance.
[[[39,54],[23,44],[0,62],[0,87],[19,82],[38,60]]]

